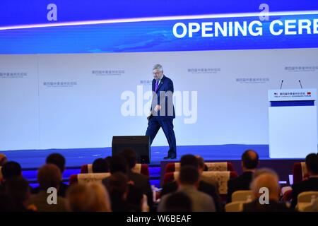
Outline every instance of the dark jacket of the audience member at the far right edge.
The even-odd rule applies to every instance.
[[[310,177],[305,181],[293,184],[292,189],[293,200],[291,206],[295,208],[297,205],[297,198],[300,193],[304,191],[318,191],[318,177]]]

